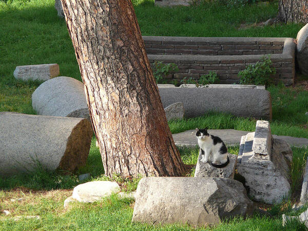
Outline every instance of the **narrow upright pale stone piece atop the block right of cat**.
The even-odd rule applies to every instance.
[[[272,150],[272,133],[269,122],[258,120],[256,124],[255,137],[253,142],[253,151],[262,156],[271,156]]]

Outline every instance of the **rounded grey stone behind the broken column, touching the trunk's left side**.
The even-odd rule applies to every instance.
[[[41,115],[90,118],[83,83],[65,76],[48,80],[36,88],[32,107]]]

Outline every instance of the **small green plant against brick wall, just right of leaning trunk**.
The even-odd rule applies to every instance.
[[[162,83],[168,74],[178,71],[179,68],[175,63],[164,64],[161,61],[155,61],[152,64],[152,70],[156,83]]]

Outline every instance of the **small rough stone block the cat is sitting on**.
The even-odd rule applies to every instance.
[[[228,153],[229,164],[223,168],[216,168],[209,163],[200,161],[202,159],[201,149],[199,149],[199,158],[196,165],[195,177],[222,177],[234,179],[237,156]]]

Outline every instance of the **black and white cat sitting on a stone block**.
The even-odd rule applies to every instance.
[[[228,165],[228,150],[224,142],[219,138],[207,133],[207,128],[196,128],[196,137],[201,148],[202,159],[200,161],[218,168]]]

